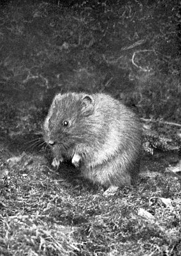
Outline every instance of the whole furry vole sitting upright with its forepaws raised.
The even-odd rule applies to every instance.
[[[55,95],[43,130],[54,167],[71,159],[83,177],[105,188],[129,185],[139,173],[140,120],[110,95]]]

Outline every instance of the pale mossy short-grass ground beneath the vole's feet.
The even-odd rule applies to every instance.
[[[1,145],[1,255],[180,255],[180,177],[168,157],[144,158],[136,186],[105,196],[68,164],[53,170],[45,152]]]

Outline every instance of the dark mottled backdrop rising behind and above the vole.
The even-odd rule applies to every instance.
[[[40,129],[32,124],[54,93],[68,90],[111,93],[144,118],[180,122],[179,8],[176,0],[1,1],[1,129],[15,116]]]

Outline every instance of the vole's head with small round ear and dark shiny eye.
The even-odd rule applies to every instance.
[[[43,125],[45,141],[60,148],[86,143],[91,136],[90,117],[94,99],[84,93],[65,93],[55,96]]]

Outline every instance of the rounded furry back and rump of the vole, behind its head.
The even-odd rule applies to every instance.
[[[98,93],[93,97],[95,108],[91,118],[92,122],[99,120],[100,129],[95,127],[99,140],[87,164],[86,176],[105,186],[130,184],[139,172],[140,120],[130,109],[109,95]],[[89,172],[89,168],[92,172]]]

